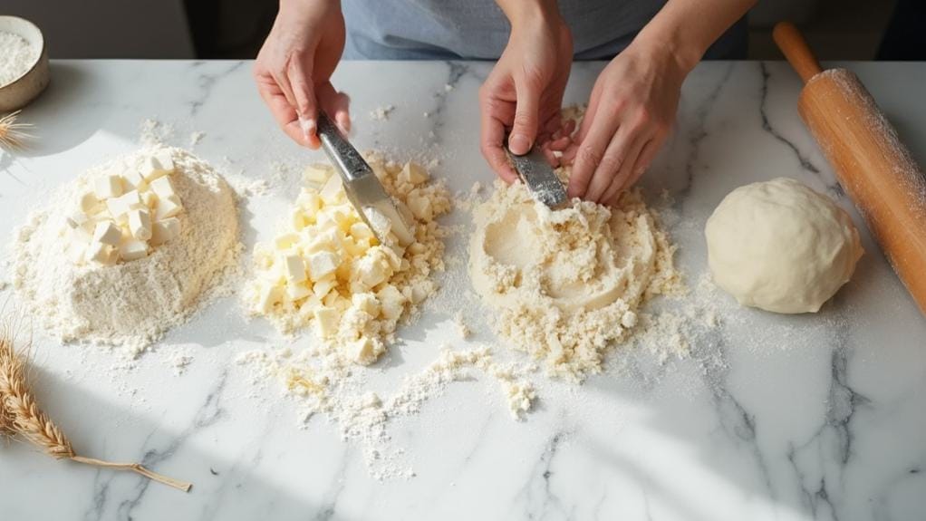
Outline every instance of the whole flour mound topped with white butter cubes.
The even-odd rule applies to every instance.
[[[92,167],[13,243],[19,304],[61,341],[141,354],[239,278],[238,214],[216,170],[155,145]]]

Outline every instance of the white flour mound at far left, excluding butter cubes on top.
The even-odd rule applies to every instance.
[[[176,236],[149,246],[131,262],[75,262],[69,254],[70,217],[80,211],[86,194],[114,170],[144,170],[157,155],[169,155],[173,162],[170,185],[182,211],[167,218],[178,221]],[[128,221],[117,229],[123,239],[132,233]],[[102,240],[103,235],[92,239]],[[241,250],[235,195],[211,166],[189,152],[146,147],[90,168],[58,190],[19,229],[13,248],[19,302],[44,329],[62,341],[119,345],[137,355],[191,316],[207,296],[231,291]]]

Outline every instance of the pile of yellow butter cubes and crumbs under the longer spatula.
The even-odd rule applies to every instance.
[[[252,314],[283,332],[313,325],[329,349],[362,365],[385,352],[397,324],[435,291],[430,276],[444,269],[446,234],[436,218],[450,209],[444,184],[423,167],[379,154],[367,161],[414,217],[414,241],[400,246],[386,229],[387,243],[380,243],[333,168],[314,165],[282,232],[255,246],[255,278],[244,292]]]

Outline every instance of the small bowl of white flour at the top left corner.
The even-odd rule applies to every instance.
[[[0,17],[0,112],[29,104],[48,80],[42,31],[27,19]]]

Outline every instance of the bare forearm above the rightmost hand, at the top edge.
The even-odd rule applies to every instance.
[[[669,0],[634,42],[667,48],[687,72],[755,4],[756,0]]]

